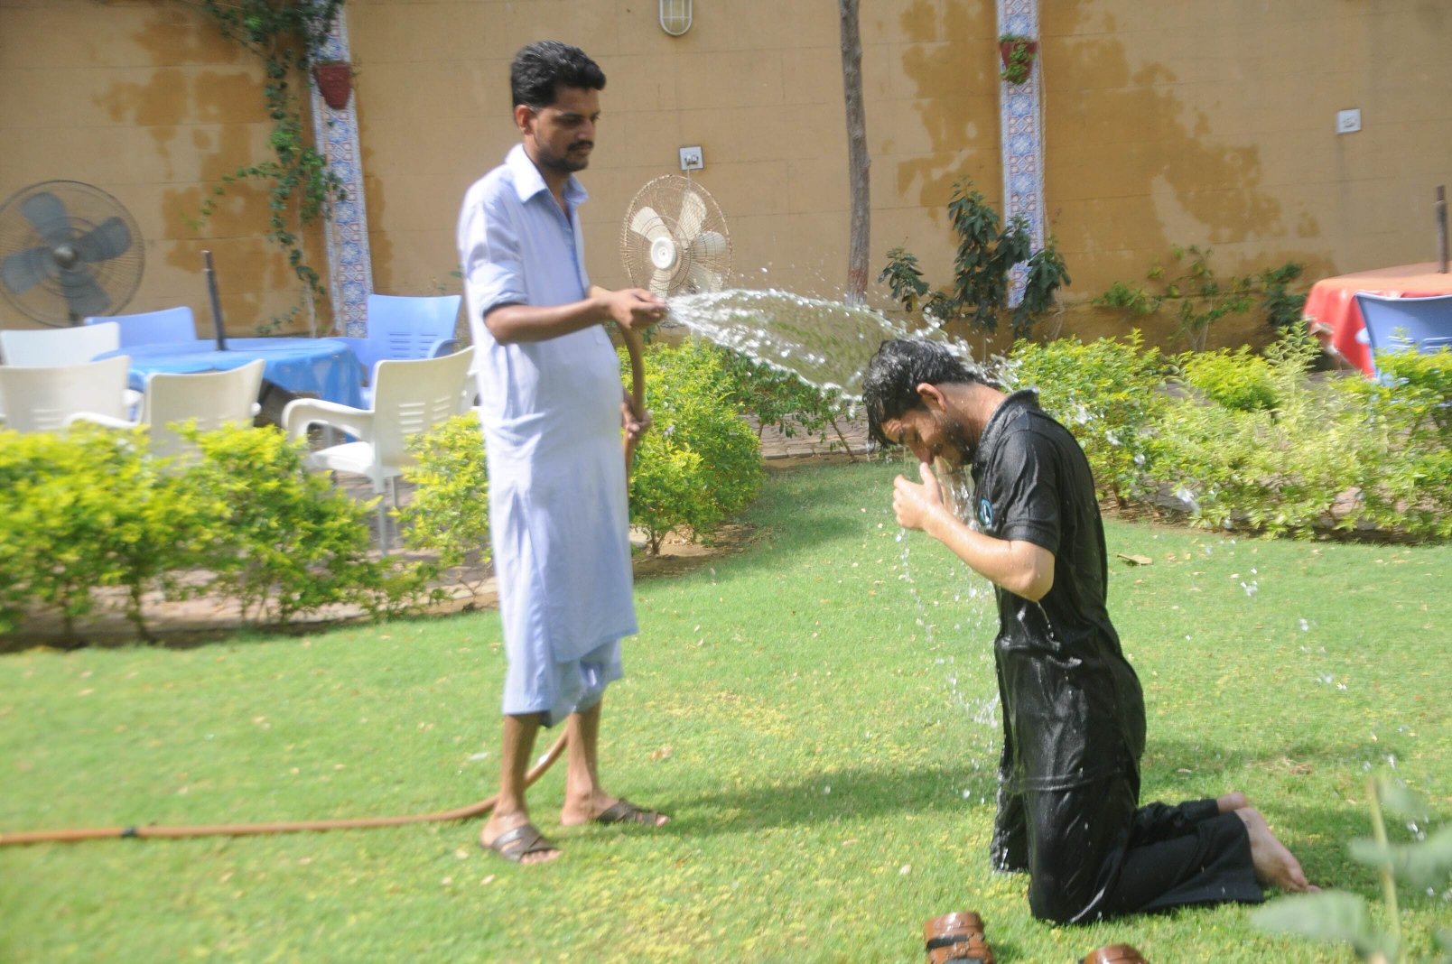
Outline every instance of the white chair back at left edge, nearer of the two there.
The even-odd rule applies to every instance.
[[[96,412],[126,418],[126,373],[131,359],[54,367],[0,366],[0,411],[16,431],[64,431],[71,415]]]

